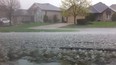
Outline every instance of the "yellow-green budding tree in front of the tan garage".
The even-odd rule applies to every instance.
[[[78,15],[85,15],[89,5],[90,1],[88,0],[62,0],[61,9],[64,16],[73,16],[74,24],[76,24],[76,17]]]

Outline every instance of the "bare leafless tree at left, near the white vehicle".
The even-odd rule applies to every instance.
[[[0,0],[0,9],[4,10],[12,25],[13,13],[20,8],[19,0]]]

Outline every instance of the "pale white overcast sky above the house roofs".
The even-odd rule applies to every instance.
[[[28,9],[33,3],[50,3],[55,6],[60,7],[61,0],[20,0],[21,1],[21,7],[23,9]],[[103,2],[106,5],[110,6],[111,4],[116,4],[116,0],[92,0],[92,4],[96,4],[98,2]]]

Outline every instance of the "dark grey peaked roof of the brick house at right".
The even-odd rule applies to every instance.
[[[109,8],[107,5],[102,2],[99,2],[90,7],[90,13],[102,13],[107,8]]]

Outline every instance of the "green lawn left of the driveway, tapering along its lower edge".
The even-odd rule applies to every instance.
[[[70,32],[73,30],[63,30],[63,29],[29,29],[30,27],[49,25],[52,23],[29,23],[29,24],[20,24],[9,27],[0,27],[0,32]]]

